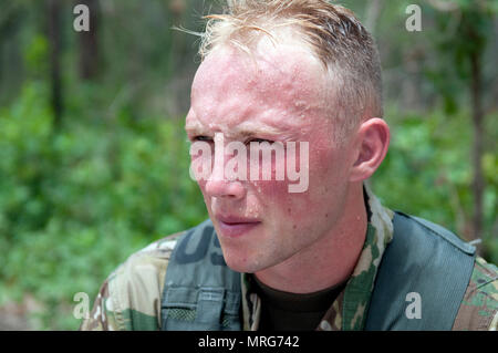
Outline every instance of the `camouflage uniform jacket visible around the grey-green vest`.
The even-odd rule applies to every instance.
[[[372,212],[363,250],[345,288],[328,310],[317,330],[362,330],[377,268],[393,237],[393,211],[384,208],[369,190]],[[160,239],[132,255],[104,282],[90,319],[80,330],[160,330],[160,301],[166,268],[176,239]],[[242,277],[243,330],[258,330],[261,301]],[[189,318],[186,318],[188,320]],[[498,269],[477,258],[470,282],[453,330],[497,330]]]

